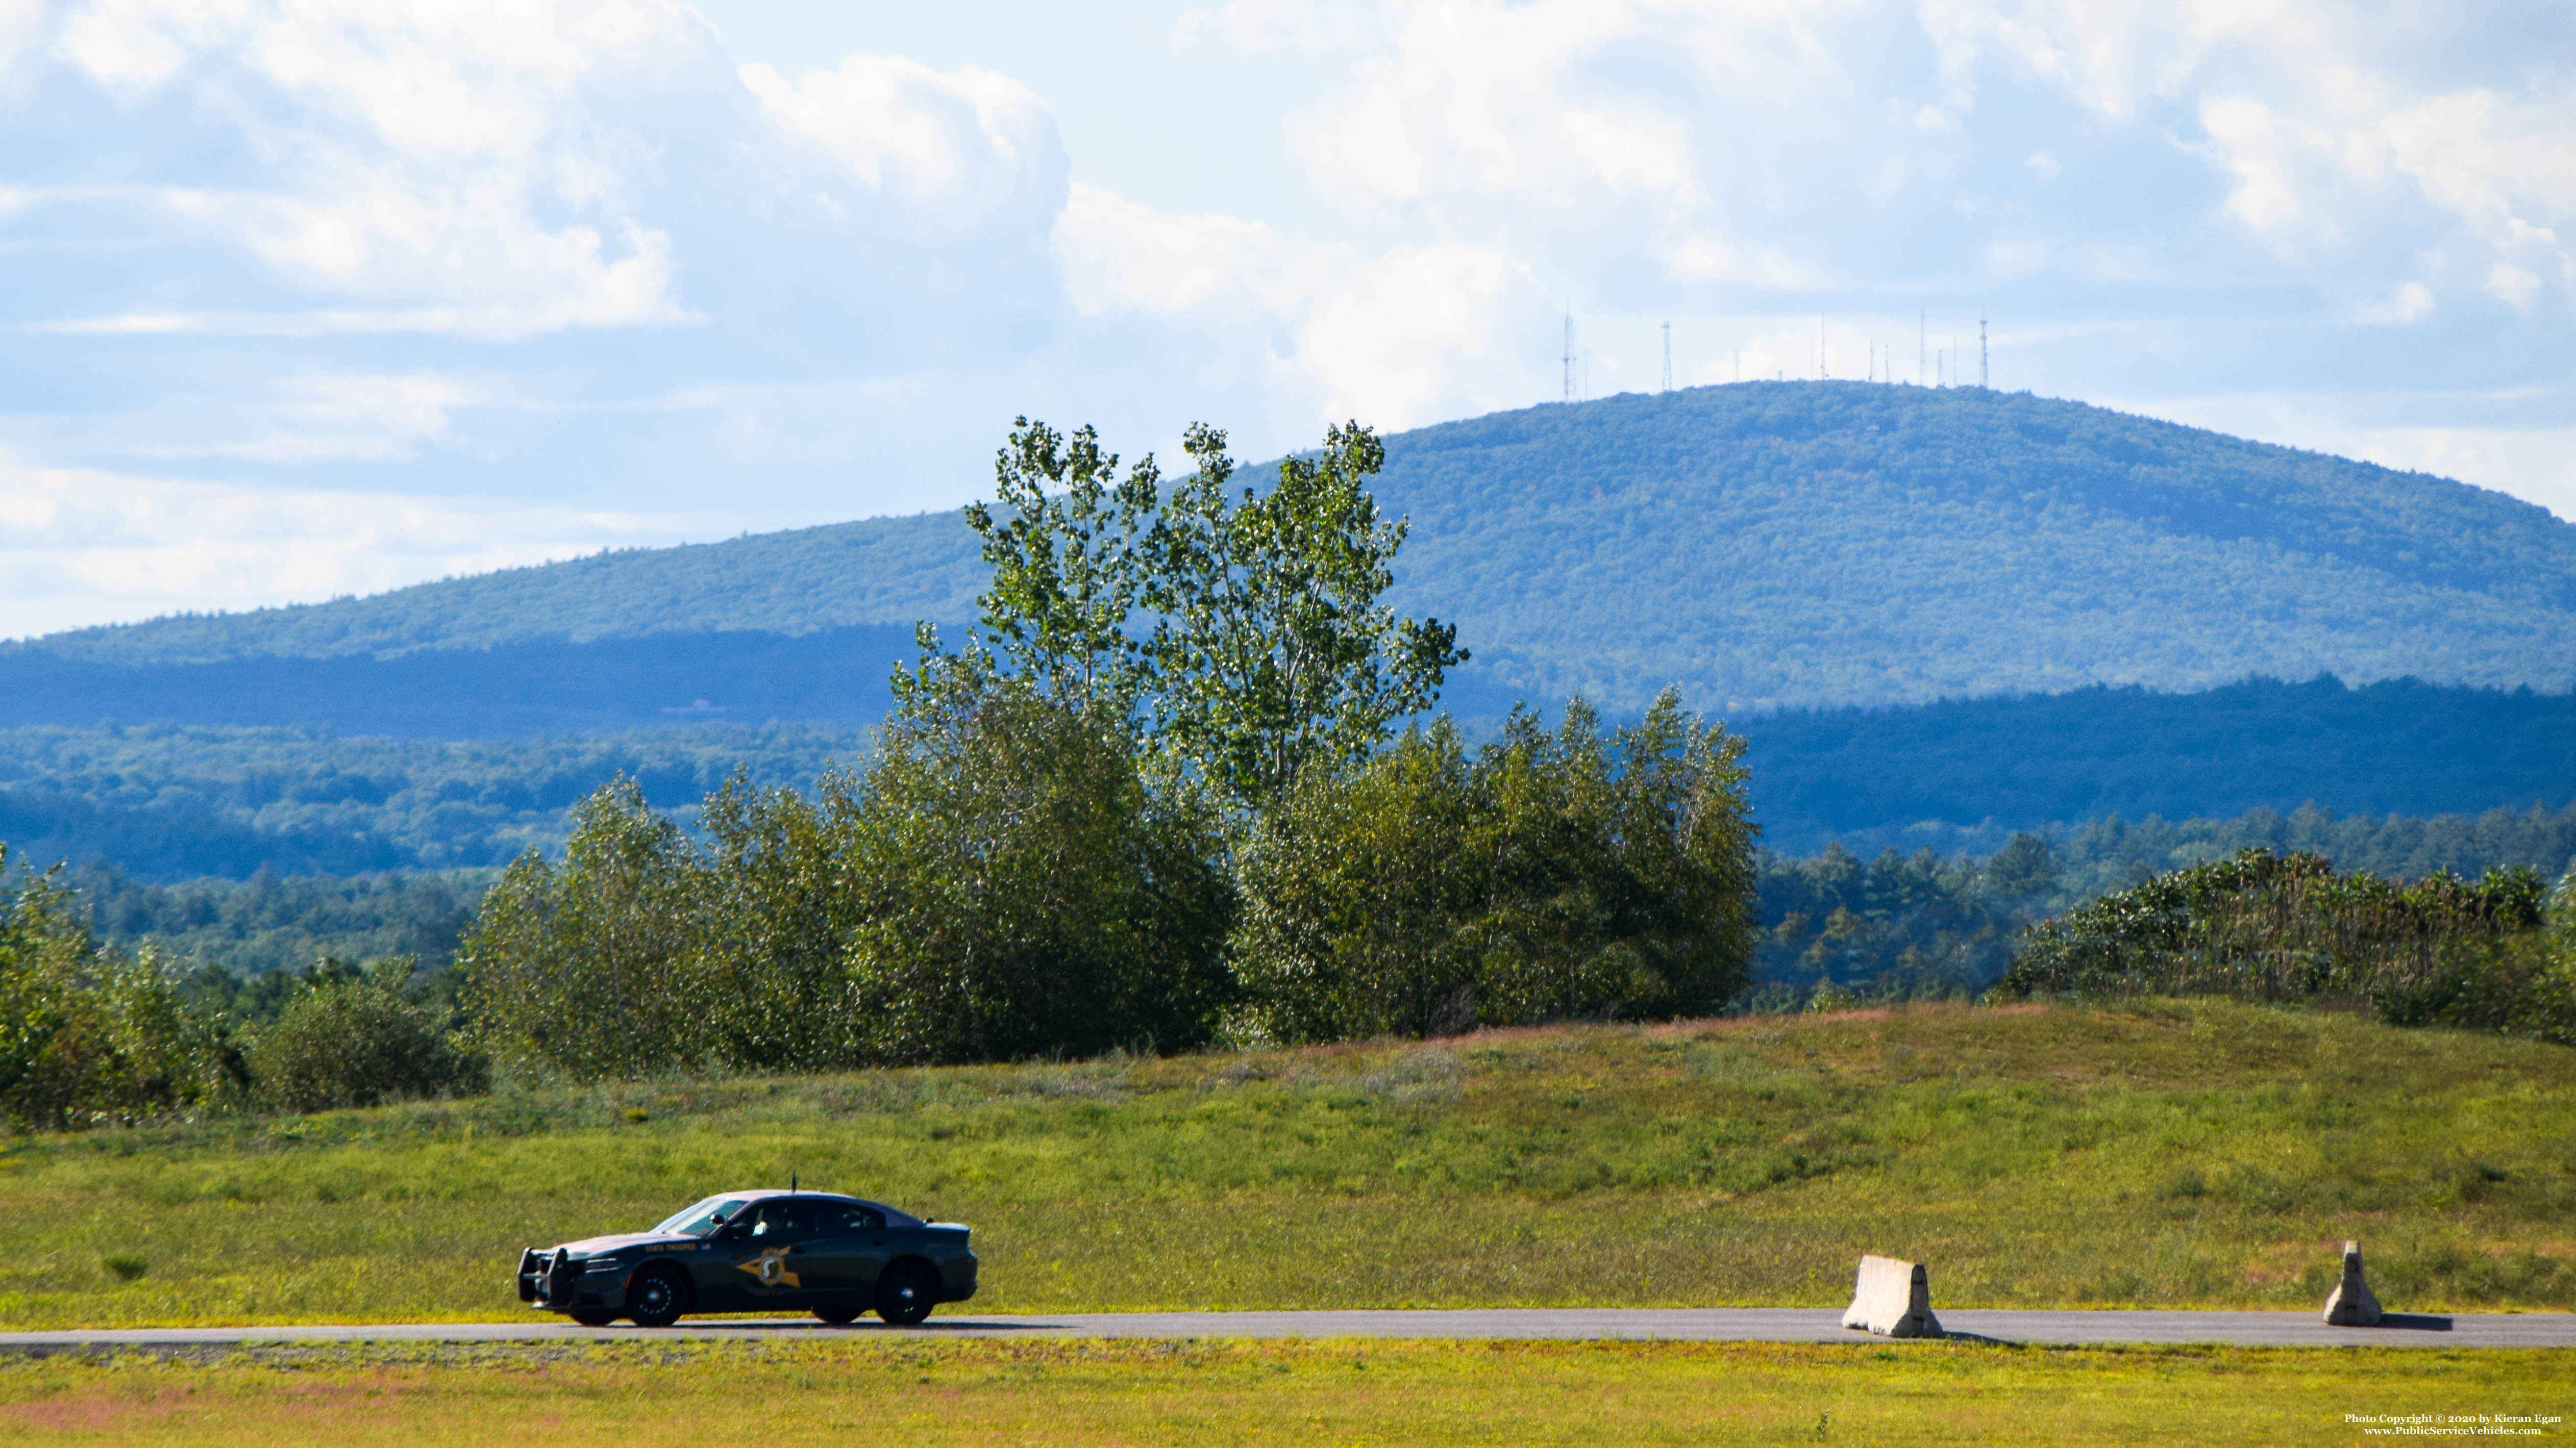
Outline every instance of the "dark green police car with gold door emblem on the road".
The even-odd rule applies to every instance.
[[[868,1309],[912,1327],[974,1296],[966,1234],[855,1196],[734,1190],[652,1232],[528,1247],[518,1301],[585,1327],[670,1327],[683,1311],[811,1311],[840,1327]]]

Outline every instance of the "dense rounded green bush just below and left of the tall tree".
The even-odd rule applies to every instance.
[[[850,1023],[871,1062],[1185,1049],[1224,1005],[1216,812],[1121,724],[953,672],[848,794]]]

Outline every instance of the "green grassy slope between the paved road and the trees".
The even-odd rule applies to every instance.
[[[979,1311],[2576,1306],[2576,1051],[2231,1002],[639,1082],[15,1139],[0,1324],[520,1317],[520,1244],[806,1185],[971,1221]],[[953,1311],[953,1309],[951,1309]]]

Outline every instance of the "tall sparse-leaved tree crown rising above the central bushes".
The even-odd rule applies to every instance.
[[[1383,603],[1406,523],[1368,492],[1376,433],[1327,430],[1270,490],[1236,484],[1216,428],[1193,425],[1185,448],[1195,466],[1164,490],[1151,453],[1121,472],[1092,428],[1020,417],[994,500],[966,508],[994,569],[981,626],[958,652],[922,626],[899,711],[927,719],[981,698],[984,675],[1023,678],[1260,809],[1430,709],[1468,654],[1455,626]]]

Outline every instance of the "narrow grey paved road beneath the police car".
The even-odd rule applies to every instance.
[[[1942,1311],[1955,1337],[1991,1342],[2241,1342],[2254,1348],[2576,1348],[2576,1314],[2391,1317],[2388,1327],[2326,1327],[2313,1311]],[[1553,1337],[1674,1342],[1873,1342],[1819,1309],[1486,1309],[1486,1311],[1064,1311],[933,1317],[824,1327],[806,1317],[683,1319],[670,1329],[536,1322],[374,1327],[142,1327],[121,1332],[0,1332],[0,1353],[98,1348],[232,1348],[252,1342],[595,1342],[675,1337],[827,1342],[904,1337]],[[1883,1337],[1875,1342],[1886,1342]]]

